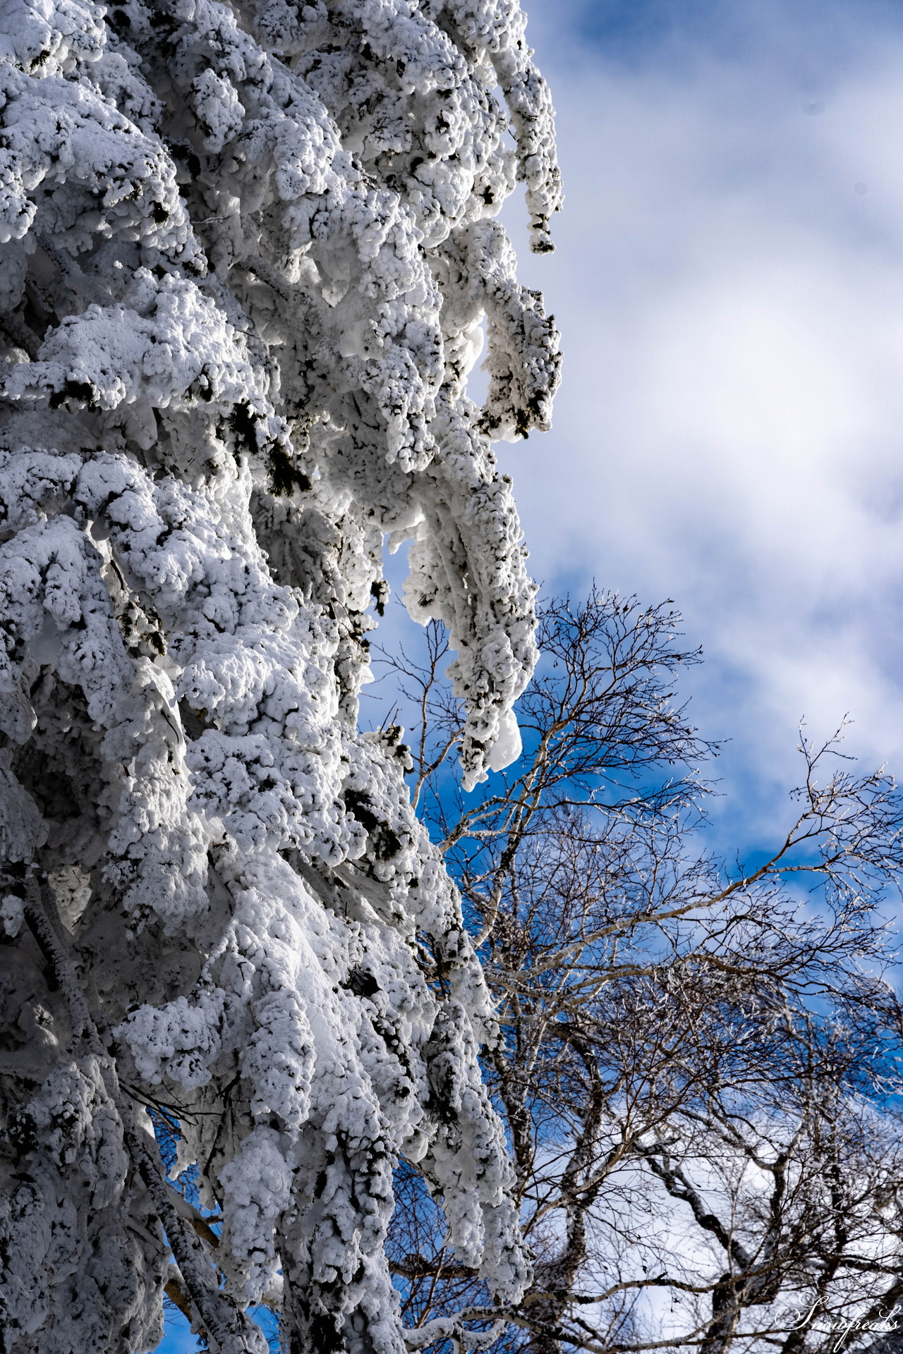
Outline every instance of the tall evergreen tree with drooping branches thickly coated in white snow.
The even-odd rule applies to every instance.
[[[0,1347],[150,1349],[169,1285],[219,1354],[260,1300],[292,1351],[399,1351],[399,1155],[491,1292],[528,1266],[491,1005],[357,692],[387,535],[467,783],[517,753],[490,440],[559,359],[494,217],[521,180],[551,248],[548,92],[516,0],[0,14]]]

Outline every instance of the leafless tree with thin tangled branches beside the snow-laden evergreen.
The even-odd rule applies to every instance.
[[[754,867],[697,844],[709,751],[674,700],[665,605],[593,592],[540,617],[521,758],[477,795],[439,628],[384,655],[420,712],[416,793],[462,892],[501,1037],[483,1051],[533,1285],[500,1311],[406,1169],[410,1319],[536,1354],[824,1350],[903,1294],[900,1009],[881,904],[903,867],[883,772],[801,738],[788,829]],[[489,1323],[505,1322],[501,1327]]]

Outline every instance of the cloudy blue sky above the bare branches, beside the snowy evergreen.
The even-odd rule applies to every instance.
[[[903,7],[532,0],[566,210],[523,280],[554,431],[502,447],[547,589],[673,597],[728,737],[715,841],[785,821],[800,716],[903,772]],[[172,1322],[160,1350],[194,1349]]]

